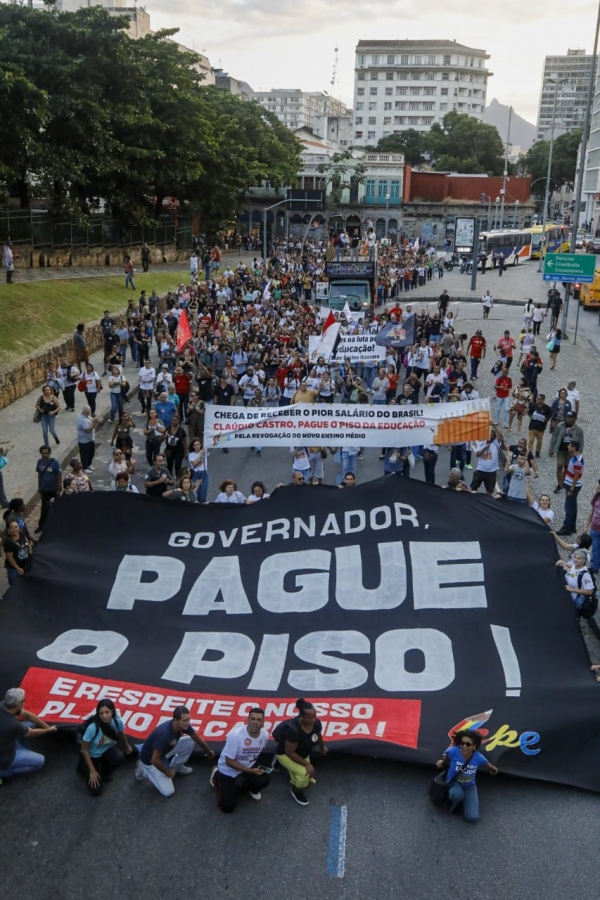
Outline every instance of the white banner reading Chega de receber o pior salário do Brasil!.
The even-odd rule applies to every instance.
[[[489,400],[427,406],[297,403],[264,409],[207,406],[204,446],[413,447],[487,440]]]

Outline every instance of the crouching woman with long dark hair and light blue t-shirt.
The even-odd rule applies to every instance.
[[[84,727],[77,771],[87,779],[90,794],[97,797],[110,773],[126,756],[137,753],[127,740],[123,720],[112,700],[100,700]]]

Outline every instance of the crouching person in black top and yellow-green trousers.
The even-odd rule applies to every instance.
[[[323,726],[312,703],[300,697],[296,709],[299,715],[278,725],[273,737],[277,741],[277,760],[290,773],[292,797],[300,806],[308,806],[304,790],[309,784],[316,784],[310,753],[317,745],[323,756],[328,750],[323,743]]]

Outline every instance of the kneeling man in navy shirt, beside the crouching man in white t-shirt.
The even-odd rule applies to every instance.
[[[214,758],[208,744],[192,728],[187,706],[177,706],[171,722],[163,722],[138,747],[140,758],[135,767],[138,781],[148,779],[159,794],[170,797],[175,793],[175,775],[191,775],[194,771],[186,762],[197,744],[206,755]]]

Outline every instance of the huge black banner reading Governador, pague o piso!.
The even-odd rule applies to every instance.
[[[329,745],[433,762],[460,727],[503,771],[600,790],[598,688],[555,545],[517,504],[400,478],[254,506],[65,498],[0,609],[0,671],[142,738],[186,703],[223,742],[317,706]]]

